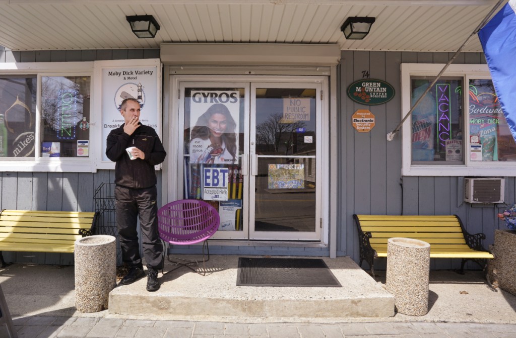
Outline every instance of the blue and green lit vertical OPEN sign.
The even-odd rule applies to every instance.
[[[76,89],[61,89],[57,95],[57,138],[60,140],[74,140],[77,121]]]

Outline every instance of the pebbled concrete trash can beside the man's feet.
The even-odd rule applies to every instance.
[[[75,308],[80,312],[107,309],[117,284],[116,238],[93,235],[75,241]]]

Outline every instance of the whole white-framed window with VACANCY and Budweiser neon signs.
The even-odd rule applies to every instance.
[[[442,67],[401,65],[403,116]],[[407,176],[510,176],[514,154],[516,143],[487,65],[448,66],[402,129],[402,173]]]

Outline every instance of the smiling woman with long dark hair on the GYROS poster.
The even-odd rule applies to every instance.
[[[223,104],[210,106],[190,133],[190,163],[237,162],[236,123]]]

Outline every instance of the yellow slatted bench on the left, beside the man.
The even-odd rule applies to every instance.
[[[77,239],[94,233],[98,212],[2,210],[0,250],[73,252]],[[4,257],[0,251],[2,266]]]

